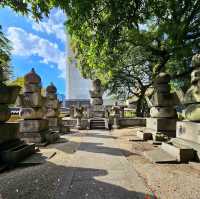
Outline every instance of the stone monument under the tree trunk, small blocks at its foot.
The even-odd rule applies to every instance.
[[[175,105],[179,103],[176,93],[170,93],[170,76],[160,73],[154,83],[153,95],[146,98],[150,106],[150,118],[146,119],[146,129],[137,133],[148,140],[165,141],[176,136],[177,114]]]

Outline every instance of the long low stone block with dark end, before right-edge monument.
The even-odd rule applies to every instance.
[[[194,160],[195,158],[195,151],[185,145],[175,146],[171,143],[162,143],[161,149],[166,151],[168,154],[174,156],[178,162],[189,162]]]

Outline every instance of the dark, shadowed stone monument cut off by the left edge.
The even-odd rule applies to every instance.
[[[8,122],[9,104],[14,104],[19,86],[7,86],[3,69],[0,68],[0,164],[15,164],[35,152],[34,144],[26,144],[19,138],[19,124]]]

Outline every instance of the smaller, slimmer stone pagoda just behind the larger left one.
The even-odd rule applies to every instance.
[[[45,100],[45,108],[46,108],[46,114],[45,118],[49,122],[49,129],[52,131],[58,131],[60,132],[60,118],[59,118],[59,100],[57,99],[57,89],[51,83],[46,88],[46,100]]]

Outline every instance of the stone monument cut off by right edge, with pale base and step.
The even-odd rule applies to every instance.
[[[182,103],[184,121],[176,123],[176,138],[169,143],[162,143],[165,153],[175,157],[178,162],[189,162],[200,159],[200,55],[192,58],[191,87],[184,95]],[[168,125],[168,123],[166,123]]]

